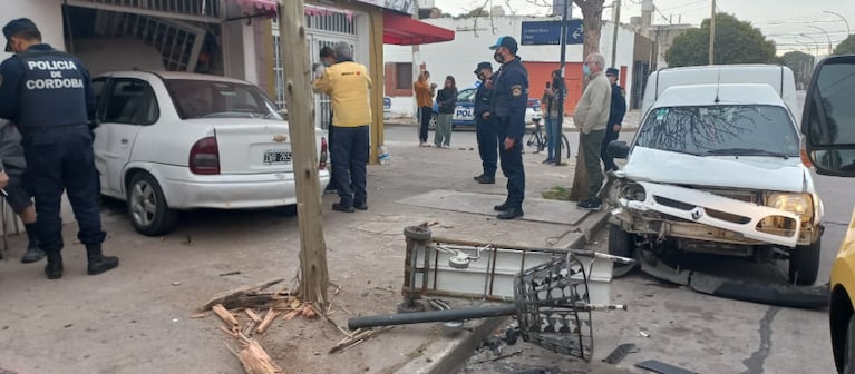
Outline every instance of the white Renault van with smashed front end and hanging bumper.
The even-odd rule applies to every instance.
[[[791,73],[791,72],[790,72]],[[658,95],[610,177],[609,250],[788,258],[789,279],[816,282],[823,204],[800,158],[796,121],[764,83],[676,85]]]

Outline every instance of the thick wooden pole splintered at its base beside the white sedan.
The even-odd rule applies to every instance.
[[[318,149],[309,73],[308,41],[303,0],[281,2],[279,30],[282,65],[288,92],[288,120],[297,179],[297,213],[300,224],[300,297],[327,311],[327,245],[321,225],[321,194],[318,178]],[[323,313],[323,312],[322,312]]]

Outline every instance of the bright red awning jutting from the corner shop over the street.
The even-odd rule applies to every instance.
[[[383,43],[429,45],[454,40],[454,31],[421,22],[408,16],[383,12]]]

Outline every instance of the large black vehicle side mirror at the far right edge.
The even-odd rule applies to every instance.
[[[801,115],[807,156],[818,174],[855,177],[855,55],[814,69]]]

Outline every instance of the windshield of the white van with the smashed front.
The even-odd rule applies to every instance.
[[[655,108],[635,145],[697,156],[799,156],[790,116],[762,105]]]

